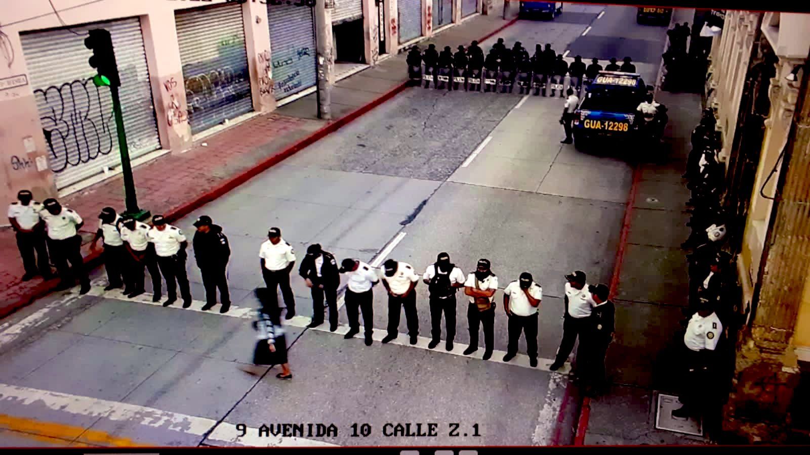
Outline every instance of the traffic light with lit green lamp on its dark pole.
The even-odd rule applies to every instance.
[[[118,77],[118,66],[115,62],[115,52],[113,50],[113,39],[107,30],[94,28],[89,31],[90,36],[85,38],[84,45],[93,51],[92,57],[88,61],[90,66],[98,70],[98,74],[93,76],[93,83],[96,87],[109,87],[113,97],[113,115],[115,116],[115,126],[118,136],[118,151],[121,152],[121,171],[124,176],[124,194],[126,211],[123,215],[131,215],[134,219],[143,220],[151,215],[148,210],[141,210],[138,207],[138,198],[135,195],[135,182],[132,176],[132,166],[130,164],[130,150],[126,145],[126,131],[124,131],[124,117],[121,111],[121,100],[118,98],[118,87],[121,87],[121,79]]]

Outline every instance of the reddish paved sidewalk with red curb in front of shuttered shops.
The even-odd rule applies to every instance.
[[[500,15],[475,15],[439,32],[420,46],[435,43],[469,45],[483,41],[515,22]],[[317,119],[315,95],[285,104],[273,113],[257,115],[226,130],[201,138],[188,151],[170,153],[134,168],[139,206],[152,215],[179,219],[206,202],[236,188],[259,172],[301,151],[320,138],[369,112],[406,88],[405,53],[392,55],[377,66],[352,74],[332,91],[332,121]],[[86,266],[98,266],[100,254],[90,253],[89,242],[104,206],[124,208],[123,179],[116,176],[90,189],[62,198],[85,220],[80,234]],[[21,282],[22,261],[11,228],[0,229],[0,317],[30,304],[57,286],[58,280]]]

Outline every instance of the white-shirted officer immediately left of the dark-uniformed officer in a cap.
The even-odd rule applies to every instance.
[[[152,217],[154,225],[148,232],[149,241],[155,245],[157,255],[157,265],[160,272],[166,279],[166,290],[168,300],[163,303],[164,307],[177,301],[177,284],[180,285],[180,296],[183,298],[183,308],[191,306],[191,289],[189,277],[185,272],[185,259],[188,254],[185,249],[189,246],[183,232],[166,223],[163,215]]]

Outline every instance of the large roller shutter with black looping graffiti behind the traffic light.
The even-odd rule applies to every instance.
[[[160,147],[147,58],[138,18],[20,36],[40,124],[49,148],[56,187],[63,189],[121,164],[108,87],[96,87],[87,63],[87,30],[104,28],[113,37],[121,76],[118,90],[130,158]]]

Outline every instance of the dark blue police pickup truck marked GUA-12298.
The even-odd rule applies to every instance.
[[[574,111],[576,147],[594,138],[634,138],[636,109],[651,88],[644,85],[641,74],[599,71]]]

